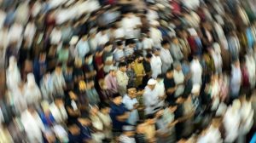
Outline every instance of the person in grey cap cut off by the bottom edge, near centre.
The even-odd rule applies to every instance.
[[[133,126],[124,126],[123,133],[119,137],[120,143],[136,143],[134,130]]]

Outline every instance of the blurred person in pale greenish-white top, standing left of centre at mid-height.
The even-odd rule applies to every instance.
[[[51,77],[55,91],[54,94],[64,96],[64,89],[66,88],[66,83],[61,70],[61,63],[55,67],[55,72],[52,73]]]

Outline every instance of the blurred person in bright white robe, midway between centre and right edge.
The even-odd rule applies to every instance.
[[[193,60],[190,63],[190,71],[191,71],[191,78],[193,84],[201,84],[202,83],[202,67],[200,61],[198,60],[197,56],[194,56]]]

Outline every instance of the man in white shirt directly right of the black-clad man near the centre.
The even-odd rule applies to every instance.
[[[150,61],[150,66],[152,70],[152,77],[156,78],[159,74],[162,73],[162,61],[160,59],[160,49],[154,49],[152,60]]]

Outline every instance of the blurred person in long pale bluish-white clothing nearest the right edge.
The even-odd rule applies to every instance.
[[[239,60],[234,61],[230,75],[230,103],[238,98],[241,88],[241,68]]]

